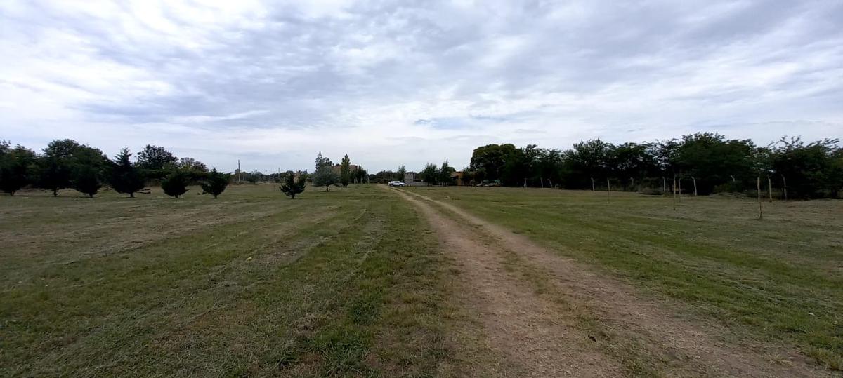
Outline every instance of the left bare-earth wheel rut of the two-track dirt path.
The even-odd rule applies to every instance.
[[[486,349],[499,364],[477,375],[616,376],[622,368],[589,343],[574,319],[559,317],[555,305],[507,272],[501,251],[484,246],[470,230],[432,206],[395,191],[416,206],[437,232],[459,268],[458,301],[485,333]]]

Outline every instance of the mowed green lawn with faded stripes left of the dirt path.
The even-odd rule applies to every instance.
[[[451,354],[429,232],[368,185],[0,195],[0,376],[429,374]]]

